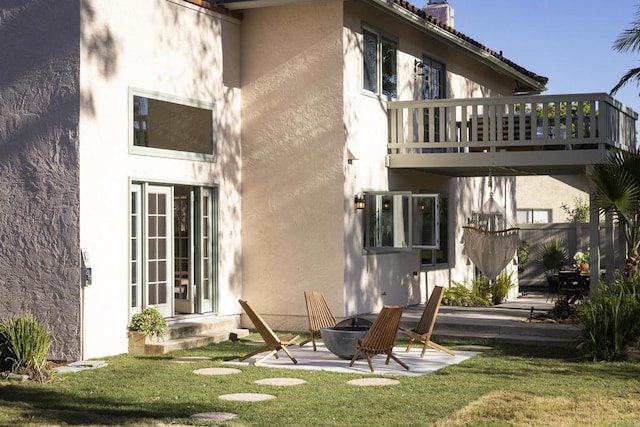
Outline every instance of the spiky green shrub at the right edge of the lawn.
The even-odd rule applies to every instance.
[[[578,312],[584,326],[581,348],[593,360],[622,360],[627,347],[638,340],[640,304],[631,291],[637,283],[631,285],[628,280],[601,284]]]

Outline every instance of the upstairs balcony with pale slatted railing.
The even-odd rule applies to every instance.
[[[394,101],[387,167],[450,176],[584,174],[636,150],[638,115],[607,94]]]

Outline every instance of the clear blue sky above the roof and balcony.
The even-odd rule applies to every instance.
[[[632,28],[640,0],[448,2],[456,30],[548,77],[545,95],[609,93],[629,69],[640,67],[640,52],[612,48],[620,33]],[[640,113],[639,93],[630,82],[614,98]]]

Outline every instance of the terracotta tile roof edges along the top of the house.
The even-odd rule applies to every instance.
[[[252,9],[268,6],[279,6],[291,3],[313,2],[318,0],[210,0],[210,3],[225,7],[229,10]],[[449,43],[467,50],[476,56],[481,62],[490,67],[497,68],[505,74],[511,74],[518,82],[518,92],[540,93],[546,90],[548,77],[540,76],[513,61],[502,56],[493,49],[448,26],[432,15],[428,15],[421,8],[404,0],[363,0],[368,3],[385,8],[401,18],[418,24],[431,34],[434,34]]]

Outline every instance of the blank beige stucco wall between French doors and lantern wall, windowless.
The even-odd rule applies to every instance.
[[[243,297],[272,327],[308,327],[305,290],[344,314],[341,8],[244,13]]]

